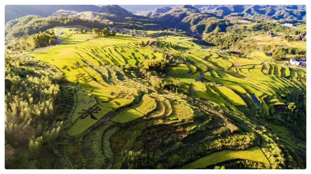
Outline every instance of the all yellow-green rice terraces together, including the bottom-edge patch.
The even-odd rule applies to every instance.
[[[69,30],[63,28],[66,33],[72,32]],[[74,34],[72,38],[61,35],[61,38],[61,45],[31,56],[54,65],[70,83],[77,85],[76,106],[70,113],[72,125],[67,134],[100,141],[90,145],[96,168],[102,167],[100,161],[105,162],[105,167],[120,167],[123,163],[120,152],[143,149],[142,137],[150,138],[150,144],[159,143],[152,140],[160,135],[157,126],[169,126],[180,133],[173,135],[178,137],[175,138],[178,142],[170,142],[172,138],[164,142],[169,150],[173,149],[171,152],[183,148],[185,144],[180,145],[183,138],[193,142],[190,137],[197,136],[200,131],[206,140],[214,140],[239,130],[234,124],[241,124],[241,130],[248,130],[243,120],[239,120],[248,115],[238,109],[249,106],[252,99],[248,97],[248,100],[248,94],[253,94],[260,102],[255,108],[256,114],[268,116],[277,112],[277,107],[286,105],[281,94],[287,94],[287,91],[299,94],[299,90],[306,87],[304,69],[230,56],[225,51],[199,46],[185,37],[151,39],[117,35],[92,38],[88,33]],[[140,66],[145,60],[174,57],[171,55],[183,59],[167,66],[166,72],[158,73],[158,77],[184,89],[187,94],[156,89],[147,83],[149,79],[137,77],[134,71],[124,68],[127,64]],[[264,65],[269,67],[265,72]],[[198,78],[200,81],[195,80]],[[293,91],[294,88],[298,90]],[[191,98],[189,101],[196,100],[197,105],[204,103],[207,109],[217,108],[217,112],[200,113],[197,107],[187,104],[189,101],[185,96]],[[303,98],[304,105],[305,101]],[[230,120],[235,122],[220,119],[218,111],[230,113],[233,115]],[[151,125],[147,128],[151,134],[145,131],[146,125]],[[94,134],[89,133],[91,129]],[[166,133],[170,132],[163,134]],[[111,146],[110,142],[118,146]],[[234,159],[269,165],[258,146],[244,151],[223,150],[182,165],[183,168],[206,168]]]

